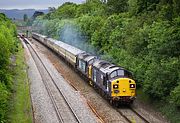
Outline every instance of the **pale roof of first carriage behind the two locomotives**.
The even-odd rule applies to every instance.
[[[74,55],[78,55],[78,54],[84,52],[84,51],[82,51],[82,50],[80,50],[80,49],[78,49],[78,48],[76,48],[74,46],[71,46],[69,44],[66,44],[66,43],[64,43],[62,41],[56,40],[55,44],[62,47],[63,49],[67,50],[68,52],[70,52],[70,53],[72,53]]]

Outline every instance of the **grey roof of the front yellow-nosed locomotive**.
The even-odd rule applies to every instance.
[[[121,68],[119,66],[116,66],[112,63],[109,63],[105,60],[96,60],[94,63],[93,63],[93,66],[98,68],[101,72],[103,73],[111,73],[115,70],[118,70],[118,69],[123,69],[124,68]]]

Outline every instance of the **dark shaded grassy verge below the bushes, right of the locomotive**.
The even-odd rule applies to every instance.
[[[140,101],[151,105],[153,109],[161,112],[171,123],[180,123],[180,109],[176,106],[170,104],[168,101],[154,101],[143,93],[142,89],[137,90],[137,95]]]

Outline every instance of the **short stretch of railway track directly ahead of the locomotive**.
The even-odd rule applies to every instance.
[[[146,118],[140,115],[132,107],[121,107],[116,109],[129,123],[150,123]]]

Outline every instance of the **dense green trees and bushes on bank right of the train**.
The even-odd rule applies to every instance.
[[[131,70],[151,100],[180,112],[179,15],[179,0],[87,0],[80,5],[67,2],[37,17],[33,25],[56,39],[73,30],[104,59]],[[167,110],[162,112],[171,118]]]

